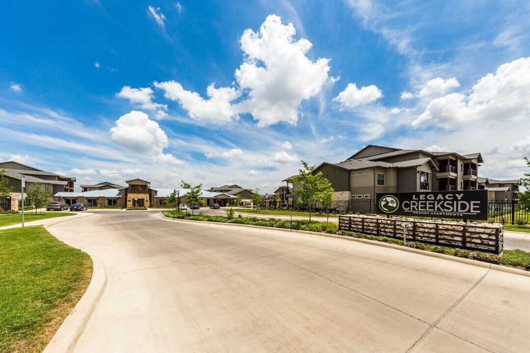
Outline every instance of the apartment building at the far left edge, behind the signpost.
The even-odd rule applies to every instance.
[[[13,189],[10,201],[13,211],[18,210],[22,199],[22,175],[25,175],[26,190],[39,184],[50,194],[50,199],[52,195],[58,192],[74,191],[74,182],[76,181],[74,177],[66,177],[14,161],[0,162],[0,170],[2,169],[4,169],[4,177],[7,178],[7,187]]]

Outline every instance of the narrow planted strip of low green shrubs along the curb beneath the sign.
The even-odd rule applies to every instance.
[[[319,221],[307,221],[307,220],[279,220],[279,219],[262,219],[257,217],[228,217],[228,216],[210,216],[204,214],[191,215],[191,213],[178,212],[178,211],[162,211],[162,214],[168,218],[174,219],[186,219],[192,221],[206,221],[206,222],[217,222],[217,223],[232,223],[232,224],[248,224],[258,225],[260,227],[272,227],[272,228],[283,228],[283,229],[294,229],[294,230],[308,230],[313,232],[322,232],[328,234],[337,234],[339,236],[368,239],[374,241],[381,241],[391,243],[395,245],[403,246],[403,240],[384,237],[384,236],[372,236],[363,233],[339,231],[338,224],[319,222]],[[407,247],[420,249],[425,251],[438,252],[440,254],[451,255],[471,260],[483,261],[490,264],[498,264],[509,267],[516,267],[530,271],[530,252],[514,249],[504,250],[503,256],[491,254],[490,252],[482,251],[471,251],[463,250],[458,248],[441,247],[436,245],[429,245],[420,242],[408,241]]]

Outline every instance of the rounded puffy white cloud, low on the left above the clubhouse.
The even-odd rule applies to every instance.
[[[161,162],[183,163],[173,155],[163,153],[164,148],[169,146],[167,135],[146,113],[131,111],[120,116],[110,133],[114,142],[129,150],[151,155],[153,159]]]

